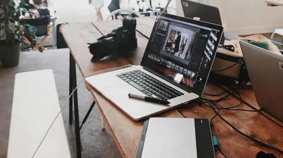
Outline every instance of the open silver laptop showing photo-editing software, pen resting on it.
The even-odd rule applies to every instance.
[[[140,65],[85,78],[129,115],[141,120],[202,96],[223,27],[160,13]],[[168,100],[155,104],[128,97]]]

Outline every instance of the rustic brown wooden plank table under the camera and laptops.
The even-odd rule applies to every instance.
[[[95,41],[100,36],[111,32],[112,29],[118,26],[122,26],[120,20],[64,25],[60,29],[80,72],[83,76],[86,76],[104,69],[116,68],[128,64],[140,64],[154,22],[155,19],[151,17],[137,18],[136,36],[138,47],[136,50],[125,56],[112,54],[97,63],[90,62],[92,54],[89,52],[89,49],[87,49],[87,43]],[[144,121],[133,121],[90,85],[86,84],[86,87],[90,90],[122,156],[135,157]],[[205,92],[217,94],[225,89],[227,89],[227,87],[223,85],[208,82]],[[241,90],[240,94],[243,97],[244,104],[239,106],[239,109],[259,109],[252,90]],[[231,96],[220,101],[219,104],[224,107],[231,107],[239,104],[239,102],[237,96]],[[240,131],[259,141],[281,150],[283,149],[283,123],[269,113],[265,111],[247,112],[222,110],[220,114]],[[175,108],[158,114],[156,117],[191,117],[209,118],[210,120],[214,115],[215,113],[212,109],[203,105],[194,105],[191,107]],[[277,157],[283,157],[279,152],[262,147],[240,135],[219,117],[216,117],[213,122],[214,126],[211,128],[211,132],[218,137],[220,150],[222,152],[216,151],[217,158],[224,157],[224,155],[229,158],[255,157],[256,153],[259,151],[275,153]]]

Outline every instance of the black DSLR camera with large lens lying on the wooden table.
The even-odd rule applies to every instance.
[[[96,62],[112,53],[127,53],[137,47],[136,15],[129,12],[120,12],[120,15],[123,16],[122,27],[112,30],[111,33],[98,38],[95,42],[88,43],[90,52],[93,54],[91,62]]]

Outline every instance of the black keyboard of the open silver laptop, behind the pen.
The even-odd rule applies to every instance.
[[[184,95],[184,93],[140,70],[117,74],[117,76],[149,97],[170,100]]]

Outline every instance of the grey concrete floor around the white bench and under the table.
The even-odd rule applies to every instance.
[[[90,59],[91,60],[91,59]],[[15,74],[19,72],[52,69],[54,71],[60,105],[69,93],[69,49],[21,52],[19,66],[4,68],[0,63],[0,158],[7,157],[11,108]],[[77,68],[77,81],[82,79]],[[80,122],[91,106],[93,98],[84,83],[78,87]],[[72,157],[76,157],[76,142],[73,125],[68,123],[68,105],[62,111]],[[95,106],[81,130],[82,157],[121,157],[108,130],[101,129],[101,115]]]

